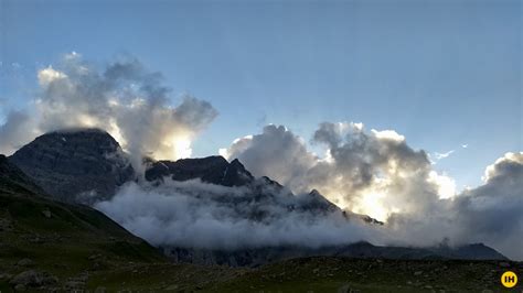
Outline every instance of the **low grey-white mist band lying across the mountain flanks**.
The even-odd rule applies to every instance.
[[[199,180],[166,178],[156,187],[132,182],[96,208],[154,246],[232,250],[380,242],[380,227],[348,220],[340,211],[300,209],[310,195],[267,188],[224,187]]]

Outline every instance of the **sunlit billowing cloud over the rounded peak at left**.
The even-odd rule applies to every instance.
[[[206,101],[185,96],[172,107],[159,73],[128,58],[105,68],[67,54],[38,73],[34,110],[11,112],[0,128],[0,152],[12,153],[36,134],[78,127],[107,130],[138,161],[142,154],[179,159],[217,115]]]

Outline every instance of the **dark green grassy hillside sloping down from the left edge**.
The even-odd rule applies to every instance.
[[[81,290],[129,262],[167,260],[100,211],[53,200],[0,155],[0,291]]]

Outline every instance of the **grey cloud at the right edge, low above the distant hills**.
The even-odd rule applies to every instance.
[[[453,243],[483,242],[522,260],[523,152],[506,153],[485,173],[483,185],[440,200],[428,211],[394,214],[388,227],[403,243],[444,238]]]

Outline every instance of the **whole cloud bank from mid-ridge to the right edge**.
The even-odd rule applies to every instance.
[[[386,220],[385,242],[483,242],[523,259],[523,153],[506,153],[485,169],[483,185],[457,194],[455,181],[395,132],[325,122],[312,142],[327,146],[325,158],[314,156],[288,129],[268,126],[225,153],[257,176],[275,174],[295,191],[317,188],[342,207]]]

